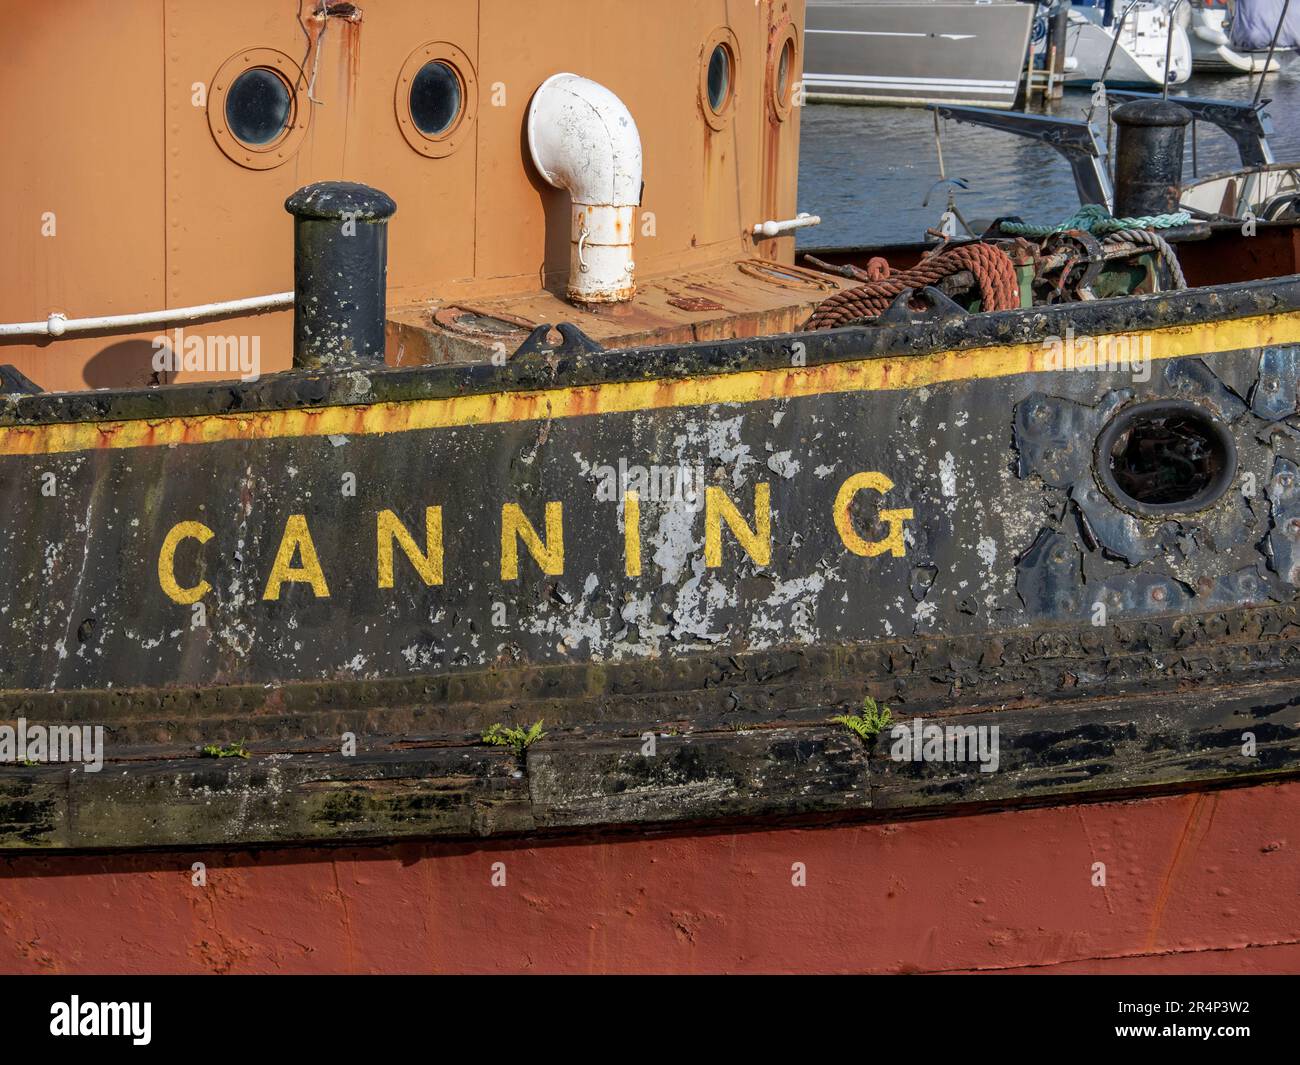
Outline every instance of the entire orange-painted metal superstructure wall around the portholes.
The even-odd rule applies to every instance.
[[[365,182],[396,200],[390,304],[534,291],[568,268],[569,216],[567,194],[528,161],[524,117],[533,90],[562,70],[612,88],[637,121],[642,211],[654,216],[638,237],[642,276],[754,254],[790,260],[789,238],[755,247],[748,233],[794,213],[798,108],[779,116],[768,96],[781,34],[802,31],[801,0],[356,7],[359,20],[329,18],[324,30],[299,18],[316,8],[308,0],[49,0],[6,12],[0,321],[289,290],[283,202],[321,179]],[[701,70],[722,27],[738,55],[734,103],[715,129]],[[398,125],[403,66],[433,42],[463,53],[472,92],[473,127],[441,157],[412,148]],[[229,81],[221,72],[251,49],[290,60],[306,122],[268,169],[221,150],[220,108],[209,114],[207,104]],[[802,53],[792,78],[801,64]],[[191,332],[250,330],[264,369],[287,367],[287,312]],[[47,389],[138,385],[150,377],[142,342],[159,332],[5,345],[0,358]]]

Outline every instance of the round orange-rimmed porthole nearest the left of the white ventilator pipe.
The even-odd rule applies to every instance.
[[[421,44],[398,74],[398,127],[420,155],[451,155],[473,127],[477,99],[469,56],[445,40]]]

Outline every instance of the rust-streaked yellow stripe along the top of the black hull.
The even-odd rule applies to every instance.
[[[1134,334],[1148,335],[1148,334]],[[1300,313],[1178,325],[1149,330],[1153,362],[1266,345],[1300,343]],[[1078,342],[1078,338],[1076,338]],[[1040,373],[1052,348],[1041,342],[781,367],[685,380],[625,381],[524,393],[486,393],[344,407],[313,407],[195,417],[83,421],[0,428],[0,455],[43,455],[117,447],[216,443],[276,437],[372,436],[411,429],[495,425],[624,411],[755,403],[807,395],[915,389]]]

